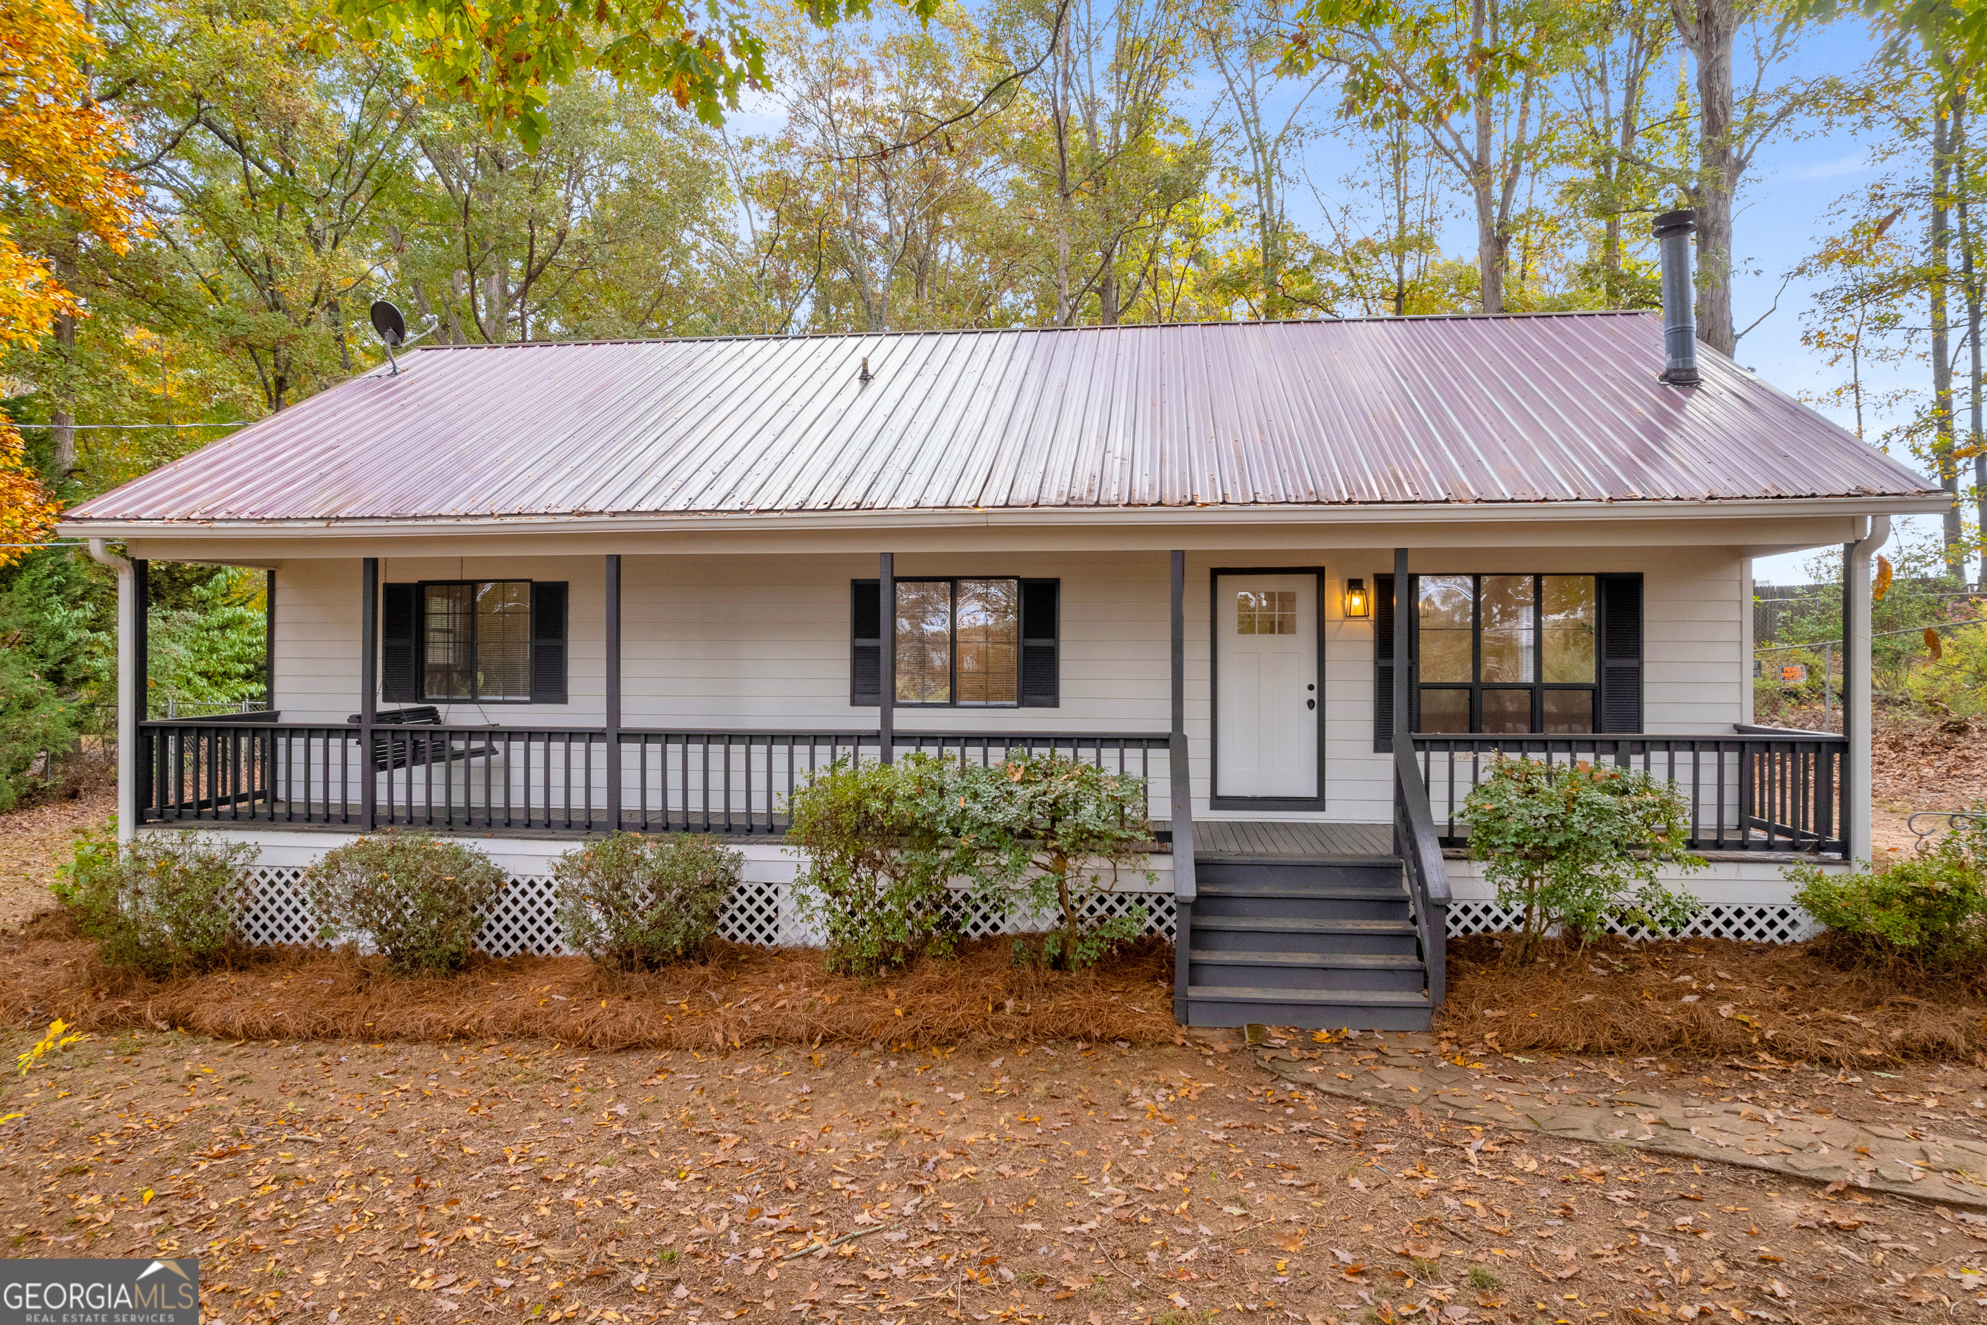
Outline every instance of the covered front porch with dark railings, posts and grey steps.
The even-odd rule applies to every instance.
[[[793,942],[781,920],[793,862],[779,838],[787,797],[811,775],[906,753],[990,763],[1009,749],[1057,751],[1146,781],[1164,902],[1148,910],[1176,940],[1176,1013],[1214,1025],[1427,1025],[1456,886],[1472,924],[1488,916],[1458,862],[1458,810],[1498,753],[1673,781],[1693,807],[1693,846],[1739,862],[1753,892],[1788,856],[1854,852],[1854,737],[1745,721],[1749,612],[1731,548],[272,562],[266,709],[169,719],[133,701],[133,830],[252,832],[300,860],[378,828],[461,832],[489,838],[521,882],[542,878],[548,850],[590,834],[719,834],[757,844],[761,894],[741,906],[759,920],[735,936]],[[1423,584],[1452,592],[1468,572],[1476,592],[1484,564],[1538,568],[1504,576],[1504,592],[1580,590],[1600,604],[1582,626],[1594,634],[1582,703],[1596,719],[1633,713],[1637,729],[1413,731],[1441,711],[1429,695],[1447,685],[1419,665],[1431,648]],[[1011,630],[970,642],[974,654],[960,604],[968,586],[997,600],[990,570],[1019,592]],[[135,600],[147,574],[131,564]],[[1629,580],[1635,594],[1605,608],[1605,586]],[[525,588],[501,588],[513,584]],[[1417,610],[1399,610],[1395,586],[1409,586]],[[453,602],[505,592],[515,612],[497,602],[479,630],[515,626],[509,656],[433,626]],[[952,612],[944,630],[900,638],[938,600]],[[882,602],[898,610],[878,612]],[[1602,638],[1605,610],[1613,644]],[[1526,648],[1546,648],[1544,612]],[[950,652],[934,663],[938,636]],[[133,697],[147,689],[141,640]],[[477,671],[467,683],[449,669],[463,658]],[[1633,677],[1633,703],[1629,681],[1609,687],[1611,660]],[[916,675],[900,675],[906,665]],[[990,679],[1001,667],[1013,673],[1005,691]],[[1534,667],[1524,691],[1534,719],[1554,693],[1544,675]],[[1578,695],[1564,665],[1552,675]],[[1472,695],[1466,711],[1482,725],[1492,705]],[[1707,713],[1727,721],[1693,721]],[[538,950],[556,944],[542,918],[511,928],[538,936]]]

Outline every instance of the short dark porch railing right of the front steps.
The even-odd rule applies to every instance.
[[[1693,850],[1842,852],[1848,739],[1826,731],[1735,727],[1731,735],[1417,735],[1443,846],[1466,846],[1462,803],[1498,755],[1594,761],[1675,785],[1691,810]]]

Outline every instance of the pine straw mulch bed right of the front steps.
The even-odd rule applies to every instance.
[[[1778,1059],[1872,1067],[1904,1059],[1987,1067],[1987,971],[1933,979],[1852,969],[1824,940],[1741,944],[1600,940],[1506,967],[1494,936],[1449,946],[1435,1029],[1498,1053]]]

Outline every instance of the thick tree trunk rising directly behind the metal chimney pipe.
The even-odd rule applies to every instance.
[[[1733,330],[1733,193],[1739,143],[1733,97],[1735,0],[1671,0],[1677,36],[1697,64],[1697,340],[1729,356]]]

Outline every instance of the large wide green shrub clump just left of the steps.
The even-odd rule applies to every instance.
[[[1057,942],[1043,946],[1053,965],[1089,965],[1145,930],[1137,906],[1097,918],[1097,900],[1150,848],[1145,779],[1063,755],[837,763],[795,793],[787,842],[807,854],[799,904],[839,969],[946,952],[952,884],[976,906],[1055,916]]]

